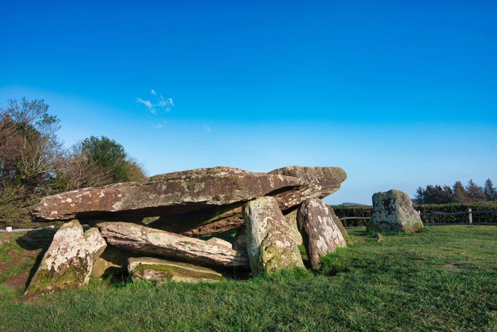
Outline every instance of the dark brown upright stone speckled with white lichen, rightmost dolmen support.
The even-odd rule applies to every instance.
[[[347,246],[328,206],[318,198],[305,200],[297,212],[297,225],[304,239],[307,258],[318,268],[322,256]]]

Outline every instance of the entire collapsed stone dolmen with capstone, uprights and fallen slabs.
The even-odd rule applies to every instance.
[[[350,241],[321,201],[345,179],[339,167],[252,173],[220,166],[44,197],[30,208],[32,220],[66,223],[24,297],[85,287],[91,274],[216,282],[233,269],[303,268],[301,243],[318,268],[320,257]],[[83,232],[82,224],[90,228]],[[227,231],[236,232],[230,241],[215,236]]]

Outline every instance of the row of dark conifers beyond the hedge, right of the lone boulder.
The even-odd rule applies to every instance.
[[[464,186],[456,181],[452,187],[443,185],[427,185],[426,188],[417,188],[414,203],[416,204],[449,204],[497,201],[497,190],[490,179],[483,187],[469,180]]]

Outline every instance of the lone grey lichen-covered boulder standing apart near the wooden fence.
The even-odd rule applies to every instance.
[[[423,223],[409,195],[400,190],[373,194],[373,215],[366,225],[368,232],[416,232]]]

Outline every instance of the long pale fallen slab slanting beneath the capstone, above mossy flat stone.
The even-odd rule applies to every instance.
[[[161,256],[214,266],[248,266],[248,257],[225,245],[169,233],[129,222],[102,222],[107,243],[142,255]]]

